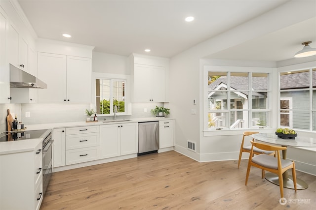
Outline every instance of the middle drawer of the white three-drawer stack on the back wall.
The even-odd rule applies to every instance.
[[[86,133],[66,136],[66,150],[100,146],[100,133]]]

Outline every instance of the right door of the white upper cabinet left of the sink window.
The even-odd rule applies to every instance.
[[[67,101],[91,103],[91,59],[67,56]]]

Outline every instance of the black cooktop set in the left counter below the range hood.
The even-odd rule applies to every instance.
[[[19,132],[12,132],[12,131],[4,132],[0,134],[0,142],[44,138],[44,136],[42,135],[46,131],[47,129],[46,130],[19,131]]]

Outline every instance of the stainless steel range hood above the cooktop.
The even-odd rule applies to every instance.
[[[47,88],[47,85],[10,63],[10,88]]]

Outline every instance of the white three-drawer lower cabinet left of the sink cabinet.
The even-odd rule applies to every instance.
[[[66,128],[66,165],[100,159],[100,126]]]

